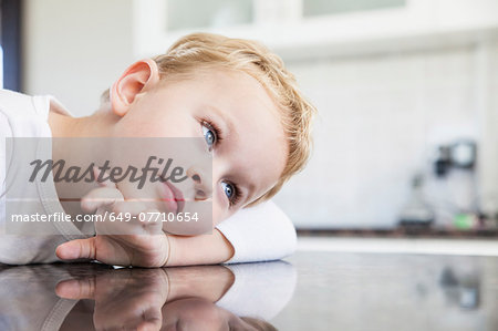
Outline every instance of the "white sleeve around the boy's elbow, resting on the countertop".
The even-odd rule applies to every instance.
[[[273,201],[241,209],[217,229],[235,249],[227,263],[278,260],[293,254],[297,246],[292,221]]]

